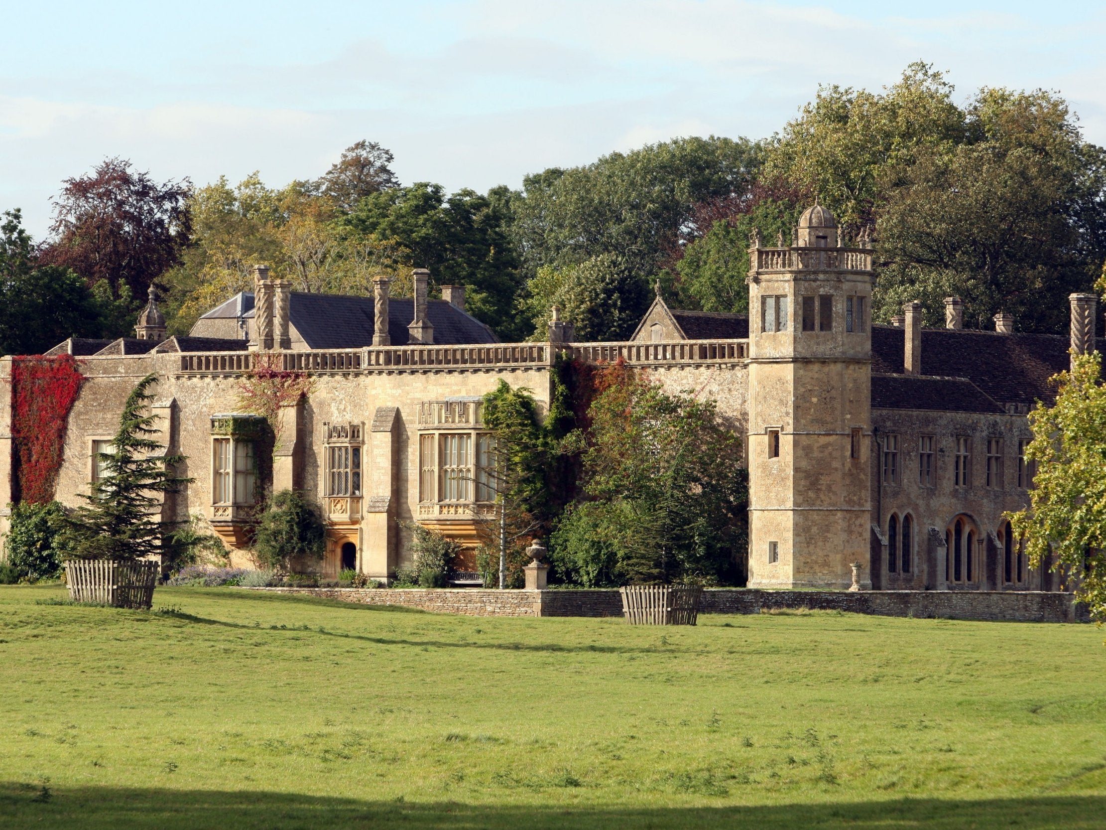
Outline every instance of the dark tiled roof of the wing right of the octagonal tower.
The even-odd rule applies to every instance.
[[[872,326],[873,373],[904,374],[905,339],[905,329]],[[1068,344],[1057,334],[922,329],[921,374],[967,377],[1000,404],[1032,406],[1055,395],[1048,378],[1068,367]]]

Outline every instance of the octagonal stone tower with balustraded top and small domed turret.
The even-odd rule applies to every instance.
[[[870,588],[872,251],[817,205],[795,236],[749,251],[749,585]]]

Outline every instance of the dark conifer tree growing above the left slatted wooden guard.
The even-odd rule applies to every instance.
[[[123,407],[111,453],[101,453],[106,469],[92,485],[87,505],[62,521],[59,547],[71,559],[134,560],[165,550],[169,522],[159,519],[161,499],[190,481],[170,470],[184,456],[161,455],[153,438],[155,416],[149,414],[154,396],[149,387],[157,375],[146,375],[134,387]]]

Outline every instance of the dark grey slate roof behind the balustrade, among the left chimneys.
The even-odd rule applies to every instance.
[[[253,294],[242,292],[200,318],[253,317]],[[357,349],[373,344],[375,302],[372,297],[315,294],[293,291],[289,303],[292,325],[310,349]],[[388,334],[392,345],[410,343],[407,325],[415,318],[413,299],[388,301]],[[427,302],[436,345],[498,343],[499,338],[471,314],[445,300]]]

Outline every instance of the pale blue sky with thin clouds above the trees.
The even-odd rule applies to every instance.
[[[41,237],[66,176],[282,185],[359,138],[404,183],[519,186],[676,135],[771,135],[820,83],[926,60],[958,95],[1058,90],[1106,144],[1106,4],[0,0],[0,210]]]

